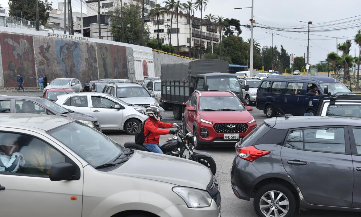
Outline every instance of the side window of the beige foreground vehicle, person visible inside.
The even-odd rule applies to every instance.
[[[0,173],[49,176],[51,165],[65,156],[38,138],[0,132]]]

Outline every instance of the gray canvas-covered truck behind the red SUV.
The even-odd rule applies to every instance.
[[[185,104],[195,90],[228,90],[244,101],[237,76],[229,74],[229,63],[218,59],[163,63],[161,83],[162,102],[173,107],[177,120],[181,119]]]

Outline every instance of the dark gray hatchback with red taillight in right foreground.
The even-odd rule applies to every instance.
[[[266,119],[236,144],[234,194],[259,217],[295,208],[361,211],[361,121],[336,117]]]

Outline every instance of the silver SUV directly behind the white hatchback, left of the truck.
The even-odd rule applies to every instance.
[[[140,84],[132,83],[109,83],[106,84],[103,93],[108,93],[114,97],[121,98],[124,102],[148,107],[159,105],[154,94],[149,94]]]

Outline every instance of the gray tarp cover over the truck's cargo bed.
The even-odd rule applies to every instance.
[[[160,77],[161,80],[189,81],[191,76],[212,72],[229,73],[229,63],[218,59],[163,63]]]

